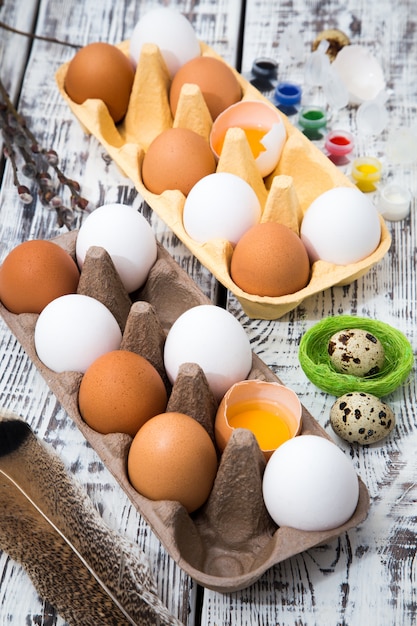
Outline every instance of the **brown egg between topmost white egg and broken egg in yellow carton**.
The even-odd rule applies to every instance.
[[[175,115],[181,88],[186,83],[198,85],[213,118],[242,98],[242,89],[235,74],[223,61],[201,56],[185,63],[175,74],[169,93],[171,111]]]

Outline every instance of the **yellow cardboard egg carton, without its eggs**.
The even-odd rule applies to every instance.
[[[224,62],[209,46],[201,43],[201,53]],[[128,54],[129,42],[119,45]],[[184,85],[175,118],[172,117],[168,91],[170,79],[157,46],[142,48],[138,69],[124,120],[115,124],[105,104],[96,99],[76,104],[65,91],[69,63],[56,72],[59,90],[86,133],[92,134],[130,178],[149,206],[171,228],[188,249],[239,300],[251,318],[278,319],[295,309],[304,299],[335,285],[345,285],[366,274],[388,251],[391,237],[382,217],[381,239],[372,254],[356,263],[336,265],[318,260],[311,268],[310,280],[303,289],[284,296],[257,296],[244,292],[231,279],[230,259],[233,246],[225,240],[200,244],[183,226],[185,196],[178,190],[160,195],[144,185],[141,164],[150,143],[171,127],[189,128],[209,141],[212,119],[200,89]],[[262,94],[231,66],[241,88],[242,99],[268,102]],[[277,221],[299,233],[300,222],[307,208],[319,195],[334,187],[354,186],[312,141],[281,115],[287,132],[281,158],[275,170],[261,177],[244,131],[231,129],[217,163],[217,172],[229,172],[246,180],[255,190],[262,207],[261,221]]]

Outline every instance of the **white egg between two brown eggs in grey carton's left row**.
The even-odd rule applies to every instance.
[[[52,300],[39,315],[34,332],[39,359],[54,372],[85,372],[102,354],[117,350],[119,325],[98,300],[69,294]]]

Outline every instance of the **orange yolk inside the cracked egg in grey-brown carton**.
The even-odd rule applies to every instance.
[[[247,428],[255,435],[262,450],[274,450],[290,439],[291,413],[281,405],[259,400],[245,400],[230,407],[227,420],[232,428]]]

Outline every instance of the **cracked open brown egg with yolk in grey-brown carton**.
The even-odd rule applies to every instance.
[[[266,459],[284,441],[301,432],[302,406],[297,394],[280,383],[244,380],[233,385],[216,414],[215,437],[224,450],[236,428],[250,430]]]

